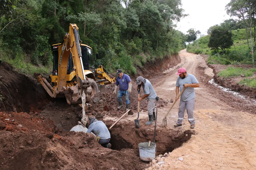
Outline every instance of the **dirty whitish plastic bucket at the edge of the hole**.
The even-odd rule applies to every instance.
[[[140,160],[142,161],[152,161],[156,157],[156,143],[151,142],[150,146],[148,146],[148,142],[139,143],[139,151],[140,151]]]

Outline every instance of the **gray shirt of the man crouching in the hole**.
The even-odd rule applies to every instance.
[[[110,133],[106,125],[102,121],[96,121],[90,124],[87,133],[93,132],[95,135],[99,136],[101,139],[109,139]]]

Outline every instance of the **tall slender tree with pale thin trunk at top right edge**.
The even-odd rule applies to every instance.
[[[251,38],[251,50],[252,50],[252,62],[254,63],[254,50],[252,41],[252,20],[255,13],[255,0],[231,0],[228,5],[226,5],[227,14],[230,16],[236,16],[242,19],[246,23],[246,27],[250,31]],[[249,19],[249,20],[247,20]],[[247,40],[249,46],[249,42]]]

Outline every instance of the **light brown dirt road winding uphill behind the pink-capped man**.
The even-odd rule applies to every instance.
[[[256,169],[255,115],[222,101],[233,96],[219,92],[220,89],[208,83],[209,76],[201,69],[202,65],[206,65],[204,60],[199,61],[195,54],[187,53],[186,49],[180,51],[179,55],[185,57],[182,67],[194,74],[200,84],[199,88],[195,88],[196,135],[164,159],[169,163],[168,169]],[[158,97],[175,98],[175,72],[177,70],[150,80]],[[168,103],[167,107],[158,109],[158,128],[172,104]],[[183,131],[190,129],[187,113],[183,125],[173,127],[178,118],[179,101],[175,105],[167,116],[166,128]],[[146,112],[143,114],[146,117]],[[179,157],[183,161],[178,160]]]

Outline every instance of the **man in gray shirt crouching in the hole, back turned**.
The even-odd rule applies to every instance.
[[[104,148],[110,148],[110,133],[106,125],[102,121],[98,121],[95,117],[90,118],[90,126],[87,133],[94,133],[97,137],[97,141]]]

